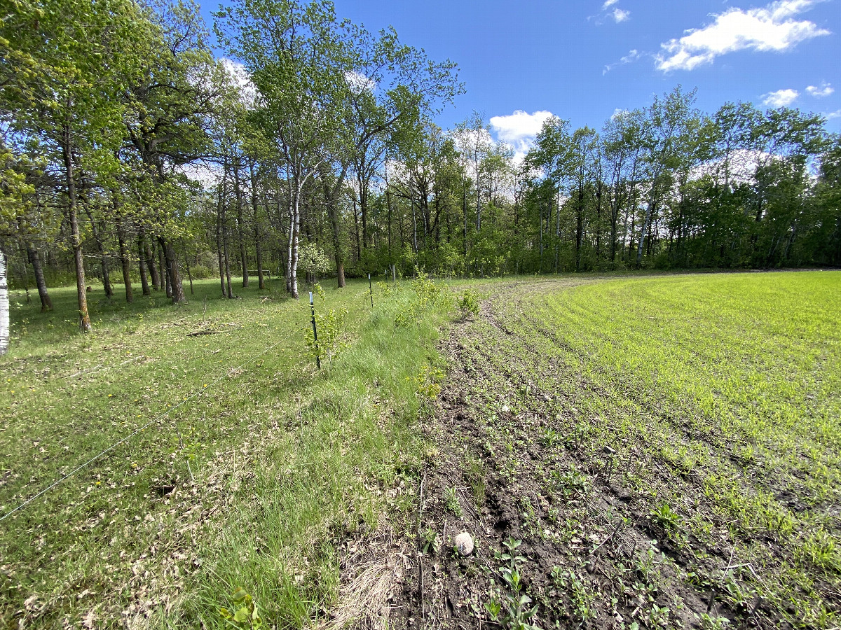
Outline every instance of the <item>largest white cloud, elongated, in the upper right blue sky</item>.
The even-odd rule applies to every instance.
[[[791,19],[821,0],[778,0],[764,8],[729,8],[714,14],[712,24],[689,29],[680,39],[661,44],[655,67],[664,72],[693,70],[719,55],[737,50],[789,50],[801,41],[829,31],[808,20]]]

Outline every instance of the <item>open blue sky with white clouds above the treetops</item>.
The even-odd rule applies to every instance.
[[[405,43],[458,63],[467,93],[437,118],[476,110],[525,146],[549,113],[600,129],[616,109],[675,85],[697,105],[791,105],[841,131],[841,0],[335,0],[341,18],[393,25]],[[218,5],[203,0],[202,10]]]

